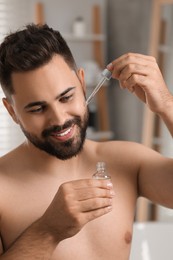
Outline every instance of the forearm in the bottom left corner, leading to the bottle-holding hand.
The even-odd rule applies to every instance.
[[[58,242],[40,220],[26,229],[12,246],[0,256],[0,260],[47,260]]]

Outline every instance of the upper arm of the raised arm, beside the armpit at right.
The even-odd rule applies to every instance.
[[[141,149],[138,174],[139,195],[154,203],[173,208],[173,159],[151,149]]]

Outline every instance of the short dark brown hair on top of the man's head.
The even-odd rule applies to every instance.
[[[73,55],[61,36],[47,24],[29,24],[23,30],[7,35],[0,45],[0,83],[6,95],[14,94],[11,75],[26,72],[48,63],[53,55],[61,55],[76,71]]]

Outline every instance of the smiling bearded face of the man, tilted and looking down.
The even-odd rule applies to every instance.
[[[29,143],[61,160],[77,155],[88,124],[82,71],[78,78],[55,55],[39,69],[14,73],[12,82],[11,114]]]

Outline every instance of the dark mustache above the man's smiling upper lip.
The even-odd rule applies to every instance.
[[[46,138],[48,136],[50,136],[52,133],[54,132],[60,132],[68,127],[71,127],[72,125],[78,125],[81,126],[81,119],[80,117],[75,117],[73,119],[68,120],[67,122],[65,122],[63,125],[53,125],[50,126],[49,128],[46,128],[45,130],[43,130],[42,132],[42,137]]]

